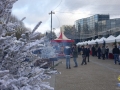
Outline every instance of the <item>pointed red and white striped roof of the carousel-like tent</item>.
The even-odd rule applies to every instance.
[[[68,39],[68,38],[64,35],[63,31],[61,30],[59,37],[56,38],[56,39],[54,39],[54,40],[52,40],[52,42],[74,42],[74,40]]]

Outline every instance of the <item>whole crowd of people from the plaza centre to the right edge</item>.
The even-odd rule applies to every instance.
[[[109,48],[108,46],[98,46],[97,48],[93,45],[90,47],[89,45],[86,46],[76,46],[76,44],[73,44],[72,47],[70,46],[65,46],[64,47],[64,55],[66,57],[66,69],[71,69],[70,65],[70,58],[71,55],[73,57],[73,61],[75,63],[74,67],[78,67],[77,63],[77,58],[78,55],[82,55],[82,62],[81,65],[87,65],[87,62],[90,62],[89,56],[92,55],[97,56],[98,59],[109,59]],[[120,65],[120,50],[119,48],[115,45],[114,48],[112,49],[112,54],[114,56],[114,64],[119,64]]]

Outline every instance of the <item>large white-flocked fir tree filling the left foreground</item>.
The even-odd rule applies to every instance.
[[[35,38],[34,32],[39,27],[39,22],[32,32],[22,34],[17,40],[15,28],[18,23],[9,22],[13,4],[17,0],[0,0],[0,90],[54,90],[49,83],[43,82],[50,78],[47,73],[53,73],[48,68],[41,68],[47,62],[41,63],[39,67],[34,64],[37,60],[48,59],[55,55],[46,37],[41,40]],[[6,36],[10,32],[11,36]],[[37,34],[36,34],[37,35]],[[41,46],[40,44],[44,44]],[[45,48],[47,51],[44,51]],[[33,51],[42,49],[42,54],[33,54]],[[55,72],[54,72],[55,73]]]

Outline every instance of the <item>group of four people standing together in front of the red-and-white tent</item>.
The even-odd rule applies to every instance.
[[[79,49],[80,49],[80,51],[79,51]],[[74,67],[78,67],[77,58],[78,58],[79,54],[81,54],[82,57],[83,57],[81,65],[83,65],[83,64],[87,65],[86,58],[89,62],[90,49],[89,49],[88,46],[87,47],[82,46],[81,48],[78,48],[76,46],[76,44],[73,44],[72,47],[65,46],[64,54],[65,54],[65,57],[66,57],[66,68],[71,69],[71,66],[70,66],[71,55],[72,55],[73,61],[75,63]]]

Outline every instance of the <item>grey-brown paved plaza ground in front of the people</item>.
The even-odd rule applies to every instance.
[[[90,56],[87,65],[81,65],[82,57],[79,56],[77,68],[74,68],[71,58],[71,69],[66,69],[65,59],[57,66],[61,74],[54,77],[55,90],[120,90],[117,86],[120,75],[120,65],[115,65],[113,59],[97,59]]]

